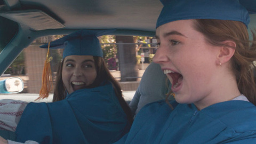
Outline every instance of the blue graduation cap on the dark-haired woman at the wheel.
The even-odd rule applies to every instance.
[[[103,57],[98,36],[107,35],[115,29],[110,30],[78,30],[65,37],[50,43],[50,49],[64,49],[62,58],[68,55],[93,55]],[[48,44],[40,46],[47,48]]]

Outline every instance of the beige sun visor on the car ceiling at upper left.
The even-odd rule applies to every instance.
[[[34,30],[64,28],[59,21],[40,10],[22,10],[0,12],[0,16],[22,23]]]

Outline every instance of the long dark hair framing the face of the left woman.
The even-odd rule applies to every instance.
[[[127,105],[126,101],[123,98],[122,95],[122,90],[121,86],[119,83],[115,80],[115,78],[110,74],[105,61],[101,57],[93,56],[96,71],[97,71],[97,76],[94,80],[94,82],[89,86],[91,87],[97,87],[99,86],[102,82],[111,82],[111,84],[114,87],[116,97],[123,108],[127,119],[130,123],[133,122],[132,118],[132,113],[130,107]],[[57,76],[56,76],[56,81],[55,81],[55,88],[54,88],[54,93],[53,93],[53,102],[55,101],[60,101],[66,98],[67,92],[66,88],[63,84],[62,81],[62,67],[63,67],[63,61],[59,64],[58,70],[57,70]]]

